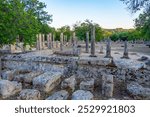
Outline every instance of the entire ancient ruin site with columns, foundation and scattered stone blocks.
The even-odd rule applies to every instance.
[[[150,99],[150,57],[133,48],[145,45],[110,39],[60,41],[39,34],[37,45],[22,52],[1,49],[1,100],[147,100]],[[6,49],[7,48],[7,49]]]

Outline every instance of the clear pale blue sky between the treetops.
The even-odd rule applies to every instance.
[[[133,28],[136,14],[119,0],[40,0],[53,15],[51,26],[73,26],[76,21],[93,20],[103,28]]]

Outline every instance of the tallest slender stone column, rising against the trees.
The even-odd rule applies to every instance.
[[[90,57],[96,57],[95,55],[95,26],[91,28],[91,55]]]

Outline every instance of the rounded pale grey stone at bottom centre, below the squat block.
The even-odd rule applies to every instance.
[[[72,94],[72,100],[92,100],[93,94],[90,91],[77,90]]]

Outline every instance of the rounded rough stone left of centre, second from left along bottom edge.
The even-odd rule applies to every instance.
[[[40,92],[35,89],[24,89],[19,93],[19,100],[39,100]]]

